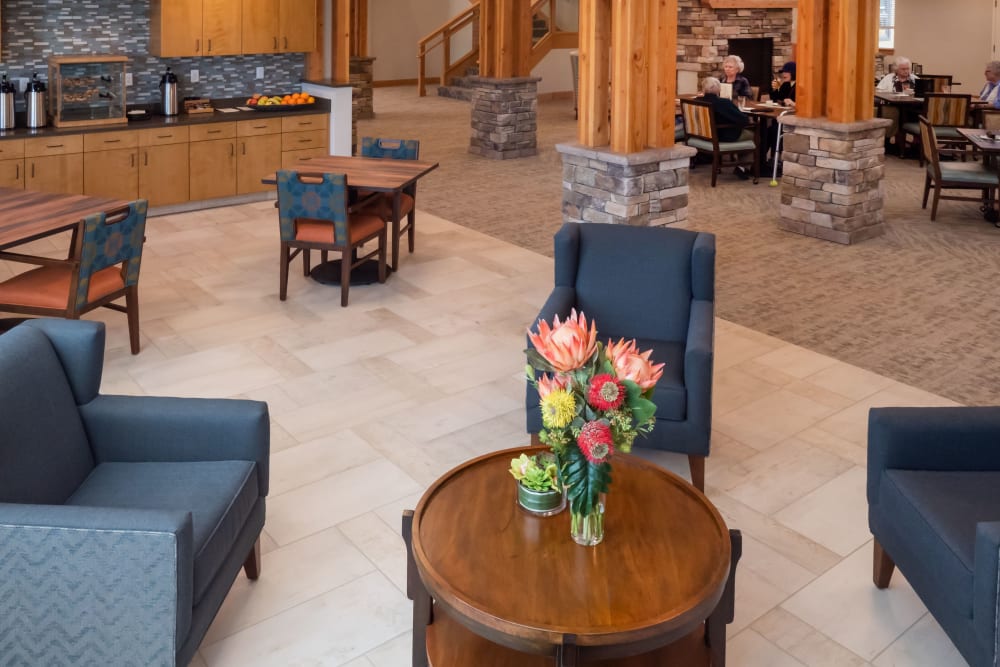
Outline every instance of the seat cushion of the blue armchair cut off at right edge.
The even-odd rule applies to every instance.
[[[976,524],[1000,516],[1000,472],[886,470],[880,514],[912,542],[921,561],[934,564],[943,599],[972,618]]]

